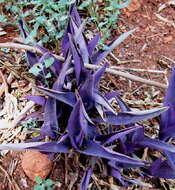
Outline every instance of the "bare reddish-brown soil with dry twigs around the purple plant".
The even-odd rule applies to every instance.
[[[119,33],[137,28],[136,32],[130,36],[124,43],[113,51],[114,56],[110,56],[111,66],[118,66],[146,79],[155,80],[163,84],[167,84],[167,79],[175,63],[175,5],[166,5],[162,10],[162,4],[166,4],[167,0],[142,0],[138,1],[138,7],[125,8],[119,19],[118,29],[113,31],[113,37]],[[0,36],[0,42],[12,41],[12,37],[18,36],[16,28],[4,27],[7,35]],[[13,31],[13,33],[11,33]],[[117,61],[118,60],[118,61]],[[131,71],[135,68],[137,71]],[[139,71],[154,70],[155,72]],[[157,72],[156,72],[157,71]],[[159,71],[162,71],[160,73]],[[166,73],[165,73],[166,72]],[[121,77],[107,75],[107,87],[112,90],[124,91],[124,99],[130,106],[136,108],[150,108],[161,105],[165,89],[151,87],[139,82],[129,81]],[[103,87],[102,87],[103,88]],[[147,99],[148,101],[145,101]],[[140,100],[138,102],[138,100]],[[154,104],[152,103],[154,102]],[[0,190],[11,190],[11,183],[16,184],[16,190],[32,190],[34,183],[31,182],[24,174],[21,168],[20,155],[21,152],[9,152],[6,156],[0,157]],[[75,180],[72,189],[79,189],[79,182],[82,176],[74,179],[74,174],[79,170],[76,164],[69,159],[69,168],[67,169],[68,183]],[[13,169],[10,169],[11,167]],[[9,171],[12,171],[9,173]],[[53,181],[59,182],[61,187],[57,190],[67,190],[65,186],[65,160],[64,155],[55,160],[54,167],[49,175]],[[174,189],[175,182],[166,180],[146,180],[150,183],[150,188],[128,187],[130,189],[142,190],[168,190]],[[101,189],[108,189],[101,186]],[[124,189],[124,188],[121,188]]]

